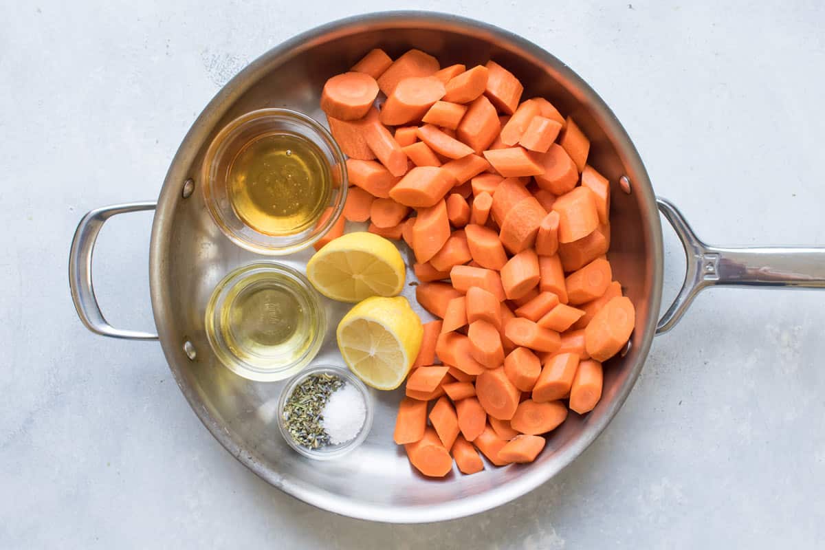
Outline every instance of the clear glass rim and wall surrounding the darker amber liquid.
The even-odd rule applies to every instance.
[[[235,159],[247,145],[276,134],[291,134],[314,143],[332,179],[327,204],[332,214],[319,214],[320,223],[310,223],[297,233],[257,231],[241,219],[229,197],[229,172]],[[253,110],[224,126],[206,151],[201,177],[206,209],[224,235],[240,247],[271,256],[291,254],[323,237],[341,217],[349,185],[346,159],[329,131],[309,116],[289,109]]]

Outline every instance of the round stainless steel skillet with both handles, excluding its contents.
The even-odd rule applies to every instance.
[[[366,51],[390,54],[424,49],[446,63],[496,59],[526,83],[526,96],[547,96],[573,115],[592,139],[590,162],[614,185],[610,261],[637,308],[637,326],[625,355],[606,365],[603,398],[587,416],[571,415],[527,466],[488,468],[473,476],[425,480],[392,442],[397,393],[375,394],[375,425],[353,454],[309,462],[281,440],[273,422],[280,383],[255,383],[224,369],[204,333],[204,308],[214,285],[234,267],[259,259],[226,239],[212,223],[198,192],[205,149],[220,128],[249,110],[284,106],[323,120],[323,82]],[[623,189],[627,190],[625,192]],[[156,209],[150,246],[152,307],[158,336],[111,327],[92,289],[97,233],[115,214]],[[658,319],[662,294],[665,215],[685,246],[687,275],[676,301]],[[308,252],[286,261],[301,267]],[[653,336],[671,329],[701,289],[711,285],[825,287],[823,248],[709,247],[678,210],[657,200],[639,154],[619,121],[572,70],[536,45],[478,21],[428,12],[351,17],[308,31],[266,52],[230,81],[201,113],[169,167],[157,202],[93,210],[78,226],[69,258],[69,281],[78,315],[104,336],[159,339],[172,374],[192,409],[238,460],[275,487],[326,510],[388,522],[428,522],[471,515],[512,501],[573,461],[604,430],[625,402]],[[412,287],[405,294],[412,298]],[[414,300],[413,300],[414,302]],[[335,326],[345,306],[326,303]],[[337,361],[332,338],[318,360]]]

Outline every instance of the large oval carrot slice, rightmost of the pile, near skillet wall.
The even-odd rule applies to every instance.
[[[587,354],[606,361],[619,353],[636,324],[633,302],[625,296],[610,299],[584,329]]]

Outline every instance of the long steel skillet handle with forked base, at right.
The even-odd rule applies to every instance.
[[[657,198],[659,210],[685,247],[685,281],[659,319],[656,334],[672,329],[696,294],[710,286],[825,289],[825,247],[713,247],[702,242],[669,201]]]

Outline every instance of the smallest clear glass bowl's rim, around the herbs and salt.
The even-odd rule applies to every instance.
[[[304,382],[306,378],[312,376],[313,374],[334,374],[338,378],[342,378],[344,383],[351,384],[358,390],[359,393],[361,393],[361,397],[364,398],[364,425],[361,426],[361,431],[358,432],[358,435],[347,441],[347,443],[338,445],[331,444],[320,449],[309,449],[296,443],[295,440],[292,439],[290,432],[286,429],[284,421],[284,407],[286,406],[286,401],[290,398],[290,395],[292,395],[292,392],[299,385],[299,383]],[[330,458],[341,457],[344,454],[349,453],[351,450],[356,449],[356,447],[360,444],[364,443],[366,436],[369,435],[370,429],[372,428],[374,408],[375,405],[372,401],[370,390],[364,385],[363,382],[361,382],[361,380],[351,373],[350,369],[338,367],[332,364],[318,364],[304,370],[301,374],[295,376],[295,378],[292,378],[290,383],[288,383],[284,388],[284,391],[281,393],[281,397],[278,399],[278,427],[281,429],[281,435],[284,436],[286,443],[298,451],[299,454],[303,454],[307,458],[314,458],[315,460],[329,460]]]

